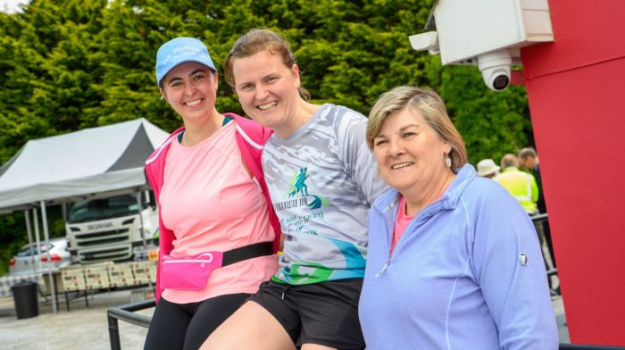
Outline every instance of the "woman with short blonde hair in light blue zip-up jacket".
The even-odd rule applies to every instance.
[[[360,319],[371,349],[557,349],[534,226],[477,177],[431,90],[379,97],[367,141],[394,187],[369,214]]]

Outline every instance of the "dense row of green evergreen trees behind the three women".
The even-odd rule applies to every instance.
[[[414,52],[432,0],[33,0],[0,17],[0,161],[26,140],[145,117],[174,129],[179,117],[154,84],[154,53],[177,36],[200,37],[218,68],[247,29],[279,29],[291,42],[315,102],[367,113],[391,87],[435,88],[467,138],[471,162],[524,146],[521,88],[495,94],[474,67],[441,67]],[[218,108],[242,112],[221,82]]]

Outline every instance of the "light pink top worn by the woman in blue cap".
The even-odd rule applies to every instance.
[[[171,143],[160,204],[163,224],[176,235],[172,256],[225,252],[275,237],[261,188],[243,166],[234,122],[196,146]],[[276,271],[276,255],[261,256],[213,270],[203,290],[165,289],[162,297],[186,304],[253,294]]]

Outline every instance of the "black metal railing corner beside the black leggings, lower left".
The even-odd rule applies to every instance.
[[[123,304],[106,311],[109,321],[109,338],[111,339],[111,350],[121,350],[120,329],[118,320],[127,321],[139,327],[148,328],[152,317],[135,313],[140,310],[149,309],[156,305],[154,298],[143,300],[137,303]]]

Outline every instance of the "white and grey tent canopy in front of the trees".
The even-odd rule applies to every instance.
[[[141,118],[30,140],[0,167],[0,209],[143,187],[145,161],[167,136]]]

